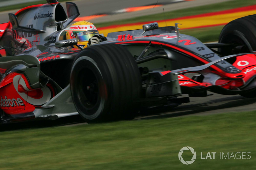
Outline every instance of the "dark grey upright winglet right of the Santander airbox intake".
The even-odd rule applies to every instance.
[[[63,23],[64,28],[66,28],[71,22],[73,22],[76,17],[80,15],[78,7],[73,2],[66,2],[67,13],[68,13],[68,20]]]

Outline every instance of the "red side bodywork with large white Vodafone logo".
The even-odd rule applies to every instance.
[[[30,113],[55,96],[51,84],[33,89],[24,74],[7,75],[0,84],[0,108],[8,115]]]

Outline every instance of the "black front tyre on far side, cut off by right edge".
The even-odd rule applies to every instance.
[[[222,29],[219,43],[234,43],[236,46],[219,48],[221,55],[251,53],[256,51],[256,15],[235,19]]]

